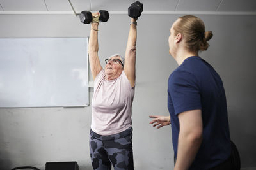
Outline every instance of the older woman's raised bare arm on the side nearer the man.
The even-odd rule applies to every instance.
[[[131,18],[131,23],[136,23],[136,20]],[[131,24],[125,51],[124,72],[132,87],[135,85],[136,38],[136,24]]]

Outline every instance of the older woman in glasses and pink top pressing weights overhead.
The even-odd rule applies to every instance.
[[[90,156],[93,169],[134,169],[131,108],[135,85],[136,25],[131,18],[125,58],[106,59],[104,69],[98,56],[99,13],[93,13],[88,45],[94,80]]]

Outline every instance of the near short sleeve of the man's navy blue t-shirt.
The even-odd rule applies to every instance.
[[[168,80],[168,90],[175,115],[184,111],[202,109],[198,81],[188,71],[174,71]]]

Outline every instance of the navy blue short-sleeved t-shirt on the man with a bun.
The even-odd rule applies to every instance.
[[[214,68],[200,57],[188,57],[168,80],[168,110],[171,116],[175,157],[179,137],[178,114],[202,110],[203,140],[192,169],[209,169],[231,154],[225,90]]]

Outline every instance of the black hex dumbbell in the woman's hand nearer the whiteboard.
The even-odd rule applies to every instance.
[[[107,22],[109,19],[109,13],[106,10],[99,10],[101,22]],[[79,15],[80,21],[84,24],[89,24],[92,22],[92,13],[90,11],[81,11]]]

